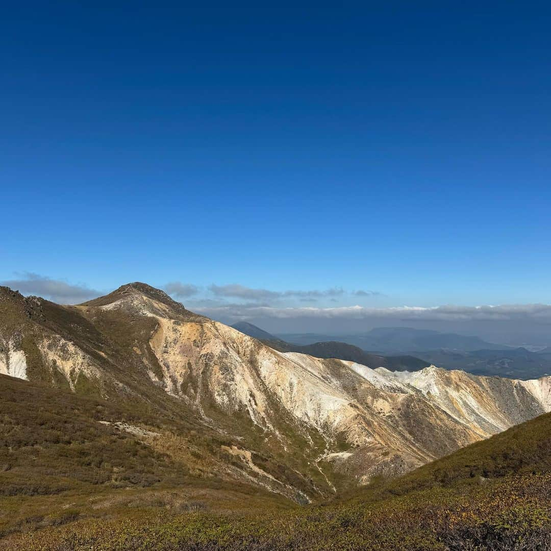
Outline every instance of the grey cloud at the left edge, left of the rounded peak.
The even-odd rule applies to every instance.
[[[52,279],[39,274],[24,272],[16,274],[18,279],[0,282],[23,295],[37,295],[59,304],[78,304],[101,295],[101,291],[90,289],[84,284],[71,284],[62,279]]]

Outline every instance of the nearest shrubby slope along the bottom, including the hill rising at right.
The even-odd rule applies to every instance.
[[[288,510],[264,502],[256,511],[223,514],[148,503],[112,510],[111,519],[83,516],[13,534],[0,541],[0,549],[546,550],[549,450],[546,414],[348,500]]]

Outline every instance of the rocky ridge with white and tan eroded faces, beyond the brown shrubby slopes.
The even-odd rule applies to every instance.
[[[141,283],[79,306],[9,292],[0,373],[154,407],[170,398],[242,442],[224,451],[246,477],[295,499],[329,493],[336,471],[354,483],[399,474],[551,410],[550,377],[391,372],[280,353]],[[302,478],[278,479],[271,457],[291,458]]]

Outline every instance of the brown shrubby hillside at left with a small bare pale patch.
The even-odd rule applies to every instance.
[[[0,538],[144,507],[290,505],[239,482],[234,440],[183,419],[0,375]]]

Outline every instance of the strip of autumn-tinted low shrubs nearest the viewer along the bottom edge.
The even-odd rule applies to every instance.
[[[151,503],[14,534],[3,549],[237,551],[549,549],[551,477],[509,476],[468,491],[417,491],[386,500],[213,514]],[[2,548],[2,543],[0,543]]]

